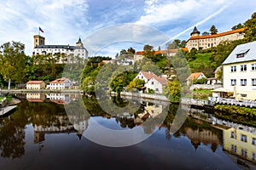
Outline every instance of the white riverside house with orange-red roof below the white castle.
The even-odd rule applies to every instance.
[[[49,89],[65,89],[73,86],[73,82],[71,82],[68,78],[58,78],[52,82],[49,82],[47,88]]]

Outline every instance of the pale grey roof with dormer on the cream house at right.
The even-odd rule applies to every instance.
[[[244,54],[244,57],[237,58],[237,54]],[[222,65],[241,63],[256,60],[256,41],[237,45]]]

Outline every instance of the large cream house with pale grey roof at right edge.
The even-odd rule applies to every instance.
[[[256,41],[236,46],[224,60],[223,86],[236,99],[256,99]]]

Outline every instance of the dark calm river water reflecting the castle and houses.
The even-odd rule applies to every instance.
[[[256,169],[255,127],[204,111],[113,97],[103,103],[125,108],[133,102],[138,108],[113,107],[111,114],[102,101],[78,94],[15,97],[18,107],[0,117],[1,170]],[[72,110],[78,102],[86,113]],[[123,136],[112,133],[117,131]]]

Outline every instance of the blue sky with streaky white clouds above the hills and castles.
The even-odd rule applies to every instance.
[[[230,31],[254,12],[256,0],[0,0],[0,44],[22,42],[32,55],[40,26],[45,44],[75,45],[81,37],[90,56],[114,57],[123,48],[188,40],[194,26]]]

